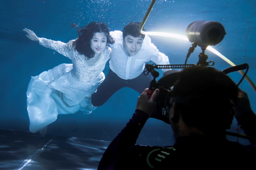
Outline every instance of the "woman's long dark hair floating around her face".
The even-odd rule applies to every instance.
[[[107,43],[113,44],[115,40],[109,35],[108,26],[105,23],[91,22],[87,26],[80,27],[75,23],[71,24],[78,30],[78,39],[75,42],[75,49],[85,55],[88,59],[94,57],[94,52],[90,47],[90,40],[95,33],[105,33],[107,37]]]

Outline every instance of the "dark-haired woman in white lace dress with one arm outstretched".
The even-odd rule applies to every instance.
[[[91,104],[91,95],[105,79],[102,71],[111,52],[106,45],[114,43],[114,39],[104,23],[91,22],[81,28],[73,26],[78,29],[78,38],[72,49],[61,41],[39,38],[32,30],[23,30],[30,40],[72,61],[72,64],[60,64],[31,77],[27,89],[30,132],[39,131],[44,136],[47,125],[56,121],[58,114],[74,114],[77,111],[90,114],[96,109]]]

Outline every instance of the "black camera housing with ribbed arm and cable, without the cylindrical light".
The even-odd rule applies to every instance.
[[[186,68],[193,66],[195,64],[170,64],[170,65],[156,65],[156,64],[146,64],[146,71],[144,71],[144,75],[148,75],[150,72],[152,76],[154,77],[153,80],[151,80],[147,95],[149,98],[151,98],[151,95],[153,94],[155,89],[159,89],[159,94],[156,100],[156,112],[152,114],[150,117],[162,120],[163,122],[169,123],[169,110],[170,110],[170,104],[172,101],[171,91],[174,83],[178,80],[179,72],[181,72],[180,69],[177,68]],[[198,65],[198,64],[197,64]],[[154,69],[166,69],[166,68],[172,68],[172,70],[168,70],[164,72],[163,77],[161,77],[158,81],[156,81],[156,77],[159,76],[159,72],[157,72]],[[246,69],[246,72],[244,73],[244,76],[241,78],[241,80],[238,82],[237,86],[242,82],[244,77],[246,76],[249,65],[248,64],[240,64],[233,67],[228,67],[227,69],[222,70],[225,74],[228,74],[230,72],[235,72],[239,70]]]

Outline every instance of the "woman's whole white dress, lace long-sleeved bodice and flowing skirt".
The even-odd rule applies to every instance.
[[[89,66],[85,56],[66,43],[39,38],[39,44],[51,48],[72,60],[72,64],[60,64],[40,75],[31,77],[27,89],[27,110],[30,132],[44,136],[47,125],[56,121],[58,114],[89,114],[96,109],[91,95],[105,79],[102,72],[110,59],[111,48],[106,46],[95,65]]]

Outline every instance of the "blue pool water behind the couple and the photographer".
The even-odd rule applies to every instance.
[[[0,128],[20,131],[29,131],[26,89],[31,76],[39,75],[61,63],[71,63],[66,57],[26,38],[23,28],[33,30],[38,37],[68,42],[78,36],[77,31],[70,27],[72,22],[80,26],[92,21],[105,22],[110,31],[122,30],[129,22],[141,22],[151,3],[150,0],[0,2]],[[252,82],[256,82],[256,1],[157,0],[145,28],[147,31],[185,35],[187,26],[197,20],[222,23],[227,35],[213,47],[236,65],[248,63],[248,76]],[[151,40],[159,51],[169,57],[171,64],[184,64],[190,42],[159,36],[151,36]],[[196,64],[200,52],[200,48],[196,48],[188,63]],[[230,67],[210,51],[206,51],[206,54],[208,61],[215,62],[215,68],[222,70]],[[108,70],[107,64],[104,73],[107,74]],[[238,72],[229,75],[235,82],[241,79]],[[246,80],[240,87],[248,93],[252,109],[256,111],[255,91]],[[59,115],[56,122],[48,126],[47,133],[111,141],[134,113],[138,95],[132,89],[123,88],[90,115],[83,115],[82,112]],[[209,109],[211,107],[214,106],[209,105]],[[230,131],[236,132],[234,128],[236,120]],[[235,137],[229,139],[237,140]],[[244,139],[239,141],[247,142]],[[156,119],[148,120],[137,141],[143,145],[170,145],[173,142],[170,126]]]

